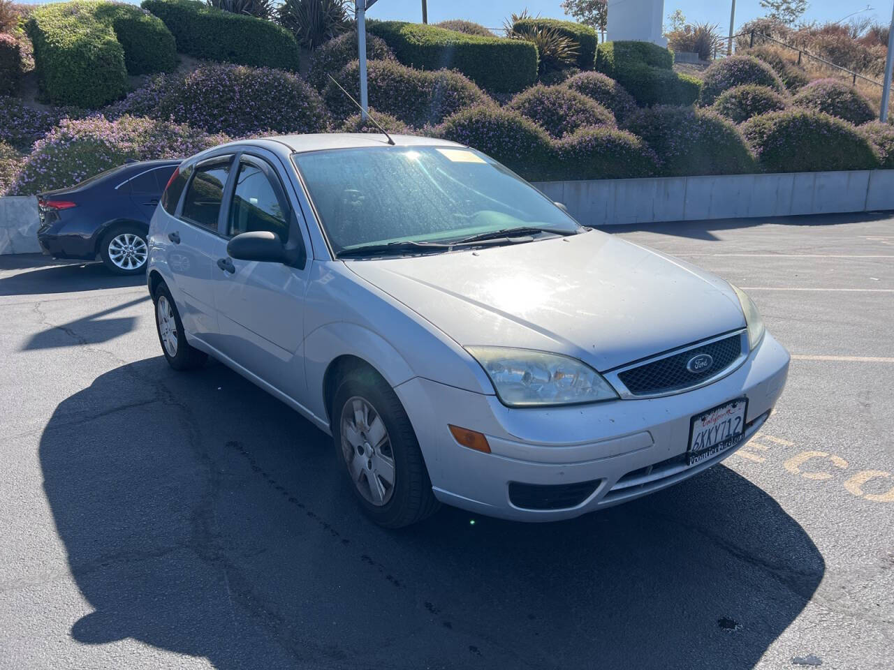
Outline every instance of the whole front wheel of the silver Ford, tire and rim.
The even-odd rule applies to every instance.
[[[363,511],[380,525],[401,528],[434,513],[416,432],[382,377],[355,370],[335,391],[333,440]]]

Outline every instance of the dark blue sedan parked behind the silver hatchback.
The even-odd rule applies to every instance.
[[[146,271],[146,234],[180,159],[125,163],[38,196],[38,242],[55,258],[102,260],[117,274]]]

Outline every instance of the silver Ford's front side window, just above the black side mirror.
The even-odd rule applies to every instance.
[[[228,235],[268,230],[279,235],[283,243],[289,241],[288,205],[271,177],[260,164],[240,161],[227,222]]]

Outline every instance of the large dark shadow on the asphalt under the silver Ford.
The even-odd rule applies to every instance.
[[[568,522],[445,507],[385,531],[330,438],[215,363],[97,377],[56,407],[40,463],[94,610],[72,637],[218,668],[750,668],[825,569],[724,466]]]

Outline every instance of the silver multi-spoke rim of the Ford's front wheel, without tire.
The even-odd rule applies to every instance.
[[[342,407],[342,456],[360,495],[375,507],[394,493],[394,452],[382,417],[359,396]]]

